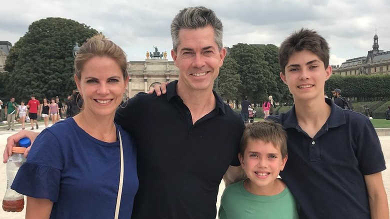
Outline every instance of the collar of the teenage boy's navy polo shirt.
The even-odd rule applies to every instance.
[[[337,127],[342,124],[345,124],[345,115],[343,112],[343,109],[334,104],[334,102],[329,99],[325,98],[325,102],[330,105],[330,115],[326,120],[327,127]],[[283,119],[283,126],[285,128],[297,128],[298,122],[296,120],[296,113],[295,113],[295,105],[292,106],[290,110],[288,110]]]

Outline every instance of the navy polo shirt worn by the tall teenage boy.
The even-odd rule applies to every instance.
[[[366,116],[325,101],[331,112],[313,138],[299,127],[295,107],[268,117],[287,132],[280,176],[300,206],[299,218],[370,218],[364,175],[386,168],[378,136]]]

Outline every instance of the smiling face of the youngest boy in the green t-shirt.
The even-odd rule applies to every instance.
[[[255,189],[272,188],[280,170],[283,170],[287,155],[282,158],[279,146],[259,139],[249,139],[244,154],[238,155],[241,168],[245,171],[249,192]]]

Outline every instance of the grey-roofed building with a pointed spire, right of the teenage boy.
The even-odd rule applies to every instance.
[[[379,50],[378,36],[373,37],[372,50],[366,56],[347,59],[342,64],[332,66],[333,74],[390,74],[390,51]]]

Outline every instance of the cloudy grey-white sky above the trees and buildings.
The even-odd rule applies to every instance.
[[[389,0],[1,0],[0,40],[13,45],[31,22],[64,17],[102,31],[128,60],[144,60],[153,45],[170,54],[172,18],[181,8],[199,5],[222,20],[224,46],[279,46],[292,31],[307,27],[329,42],[332,65],[365,56],[375,29],[379,49],[390,50]]]

